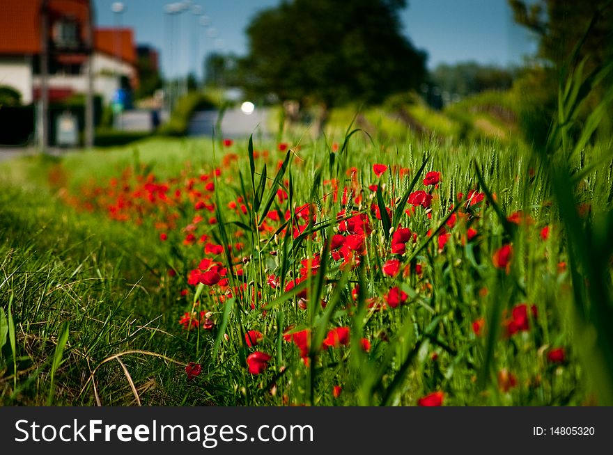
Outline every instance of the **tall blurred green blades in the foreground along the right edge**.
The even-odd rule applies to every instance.
[[[605,84],[603,97],[593,106],[584,125],[577,127],[582,104],[613,72],[613,61],[588,67],[588,57],[581,57],[582,48],[589,45],[587,38],[590,35],[591,29],[588,27],[564,61],[559,77],[557,117],[552,121],[547,143],[537,147],[536,152],[548,175],[565,227],[573,280],[574,308],[571,312],[575,343],[584,365],[589,365],[591,370],[590,385],[598,396],[598,402],[612,406],[613,334],[605,321],[613,320],[613,282],[610,274],[613,242],[608,234],[603,236],[603,232],[613,230],[613,208],[605,205],[600,207],[593,219],[582,219],[577,211],[582,195],[577,189],[589,178],[598,161],[583,170],[573,166],[577,157],[584,154],[591,136],[613,105],[613,86]],[[575,131],[573,128],[576,128]],[[613,152],[609,149],[599,161],[609,163],[612,157]]]

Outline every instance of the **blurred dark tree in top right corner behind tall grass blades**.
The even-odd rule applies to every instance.
[[[584,61],[584,75],[613,61],[613,1],[509,0],[509,4],[515,21],[538,38],[538,57],[544,64],[527,72],[517,85],[525,105],[524,129],[534,141],[543,142],[557,106],[560,70],[577,43],[582,42],[577,61]],[[587,118],[612,85],[610,72],[584,103],[581,118]],[[603,136],[613,133],[613,106],[608,109],[610,115],[598,129]]]

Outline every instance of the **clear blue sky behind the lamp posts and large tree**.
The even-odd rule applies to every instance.
[[[123,0],[125,10],[121,17],[111,11],[114,1],[94,0],[98,26],[121,23],[133,27],[137,42],[157,47],[164,72],[173,75],[185,74],[189,69],[201,74],[203,56],[213,50],[245,54],[244,31],[249,19],[258,10],[280,3],[280,0],[192,0],[210,18],[208,26],[201,26],[192,13],[181,13],[173,19],[166,15],[164,6],[173,3],[169,0]],[[405,34],[416,47],[428,52],[430,68],[467,60],[516,64],[534,51],[534,41],[513,22],[506,0],[408,3],[409,7],[402,12]]]

